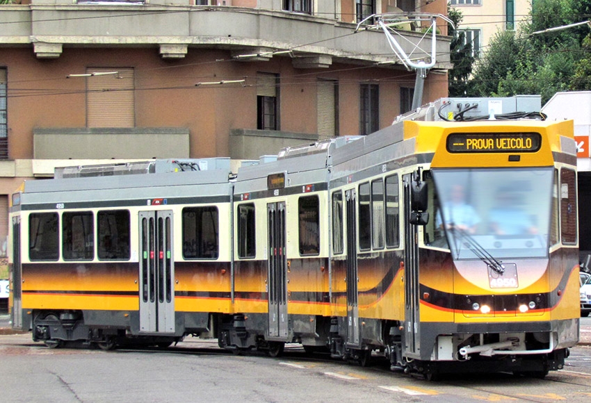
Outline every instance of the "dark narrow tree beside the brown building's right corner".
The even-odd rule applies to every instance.
[[[462,12],[456,8],[447,6],[449,19],[448,35],[451,38],[450,59],[453,69],[448,74],[448,92],[450,97],[465,97],[468,92],[468,81],[472,74],[474,57],[472,56],[472,44],[466,43],[465,33],[458,30],[462,22]]]

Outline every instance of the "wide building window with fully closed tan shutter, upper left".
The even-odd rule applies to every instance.
[[[86,125],[135,126],[133,69],[89,67],[86,74]]]

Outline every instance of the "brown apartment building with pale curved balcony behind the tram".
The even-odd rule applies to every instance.
[[[19,1],[19,0],[17,0]],[[410,108],[415,72],[373,13],[446,0],[20,0],[0,6],[0,240],[9,197],[54,167],[257,159],[370,133]],[[408,52],[424,37],[403,31]],[[450,38],[424,101],[447,95]],[[424,29],[422,29],[424,31]],[[0,250],[0,254],[3,250]]]

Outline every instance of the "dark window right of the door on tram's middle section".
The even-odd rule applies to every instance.
[[[300,197],[298,200],[300,227],[300,254],[320,253],[320,201],[318,196]]]

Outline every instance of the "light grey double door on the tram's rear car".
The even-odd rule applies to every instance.
[[[140,332],[175,332],[172,211],[140,211]]]

